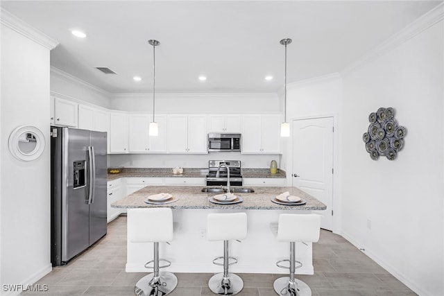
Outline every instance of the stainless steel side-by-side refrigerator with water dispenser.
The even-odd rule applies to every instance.
[[[51,126],[51,263],[106,234],[106,132]]]

